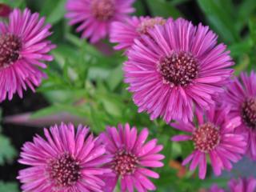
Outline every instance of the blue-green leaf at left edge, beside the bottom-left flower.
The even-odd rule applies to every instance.
[[[16,156],[16,150],[11,145],[10,139],[0,134],[0,146],[0,165],[3,165],[5,162],[12,162]]]

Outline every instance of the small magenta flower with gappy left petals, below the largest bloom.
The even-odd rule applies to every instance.
[[[194,151],[182,165],[190,163],[190,170],[199,166],[199,178],[206,177],[206,156],[209,155],[210,163],[215,175],[220,175],[222,170],[231,170],[231,162],[238,162],[246,150],[246,141],[241,134],[235,134],[234,129],[240,126],[240,118],[229,118],[229,109],[217,109],[212,107],[202,114],[197,111],[196,118],[198,126],[193,122],[171,123],[171,126],[190,133],[171,138],[174,142],[192,141]]]

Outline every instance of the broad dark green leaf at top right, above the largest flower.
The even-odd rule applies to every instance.
[[[234,7],[230,0],[198,0],[198,5],[224,41],[237,42],[239,40],[238,30],[234,25]]]

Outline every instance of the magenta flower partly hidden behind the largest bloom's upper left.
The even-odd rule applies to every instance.
[[[134,44],[134,39],[142,34],[148,35],[148,31],[155,25],[164,25],[166,19],[161,17],[131,17],[126,22],[113,22],[110,30],[110,42],[118,43],[115,50],[128,49]]]

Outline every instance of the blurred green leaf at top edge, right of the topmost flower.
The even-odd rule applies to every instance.
[[[181,13],[170,2],[164,0],[146,0],[152,14],[163,18],[178,18]]]

